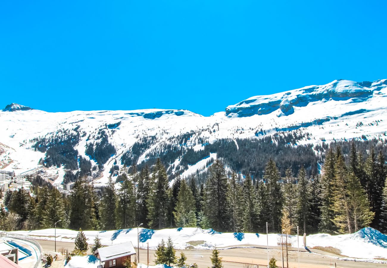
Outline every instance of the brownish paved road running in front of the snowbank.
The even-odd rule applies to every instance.
[[[43,249],[48,251],[54,250],[54,241],[39,240],[39,244]],[[74,243],[57,241],[57,251],[62,249],[68,249],[72,251],[74,249]],[[187,256],[187,263],[197,263],[200,268],[211,267],[211,250],[204,249],[185,249],[176,250],[176,255],[180,256],[180,252],[184,252]],[[277,265],[281,267],[281,251],[278,249],[269,249],[270,258],[274,256],[277,260]],[[232,248],[221,249],[220,256],[223,257],[224,268],[252,268],[253,265],[247,266],[244,263],[253,263],[259,265],[259,268],[263,268],[267,265],[267,250],[264,248]],[[149,264],[154,265],[154,250],[149,250]],[[140,263],[147,262],[147,250],[140,249]],[[286,267],[286,260],[285,260]],[[322,254],[309,253],[307,251],[300,252],[300,268],[374,268],[374,267],[386,267],[385,264],[380,263],[365,263],[355,261],[340,261],[329,256],[323,256]],[[289,251],[289,268],[298,268],[297,263],[297,251]]]

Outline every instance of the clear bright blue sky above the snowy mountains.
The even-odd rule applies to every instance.
[[[385,1],[2,1],[0,107],[181,108],[387,78]]]

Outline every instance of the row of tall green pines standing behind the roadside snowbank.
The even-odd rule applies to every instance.
[[[254,182],[248,172],[226,172],[217,159],[204,184],[198,185],[195,177],[170,182],[158,159],[151,169],[123,166],[118,189],[112,177],[102,191],[81,178],[68,197],[42,186],[34,197],[24,189],[5,192],[4,203],[19,216],[15,228],[48,228],[60,219],[58,227],[75,230],[115,230],[143,223],[152,229],[265,232],[267,222],[270,232],[281,232],[285,215],[291,232],[296,226],[308,234],[352,233],[368,226],[387,231],[387,168],[382,151],[372,148],[363,156],[352,143],[344,157],[340,146],[330,147],[322,175],[308,175],[301,166],[298,174],[288,168],[281,176],[273,159],[263,174]]]

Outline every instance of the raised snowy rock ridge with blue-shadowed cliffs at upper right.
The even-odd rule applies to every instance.
[[[305,107],[309,103],[328,100],[367,100],[374,92],[387,88],[387,79],[374,82],[334,80],[325,85],[306,86],[281,93],[254,96],[226,108],[228,117],[248,117],[278,111],[278,116],[291,115],[295,107]]]

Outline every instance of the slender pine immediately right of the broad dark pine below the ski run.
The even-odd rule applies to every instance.
[[[232,221],[233,232],[242,232],[243,230],[243,196],[242,187],[236,181],[236,174],[231,174],[229,189],[227,191],[228,204],[230,206],[229,213]]]

